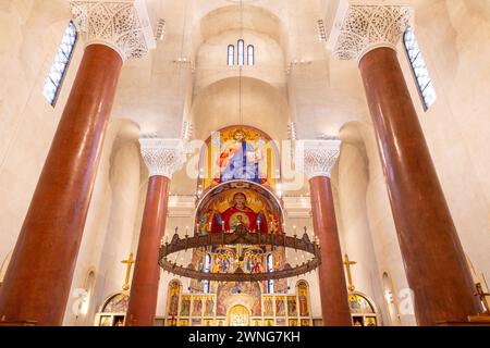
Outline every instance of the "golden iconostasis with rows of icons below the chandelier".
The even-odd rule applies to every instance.
[[[225,284],[219,294],[181,294],[180,281],[169,287],[166,326],[311,326],[308,284],[295,294],[259,294],[258,284]],[[230,293],[229,289],[232,289]],[[243,290],[243,293],[241,293]]]

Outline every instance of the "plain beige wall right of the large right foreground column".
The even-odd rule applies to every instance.
[[[463,247],[490,277],[490,3],[414,1],[415,30],[438,100],[424,112],[400,54]],[[433,15],[437,13],[437,15]]]

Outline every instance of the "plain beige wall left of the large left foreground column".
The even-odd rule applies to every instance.
[[[62,0],[0,3],[0,260],[15,246],[82,57],[78,41],[52,108],[42,87],[70,17]]]

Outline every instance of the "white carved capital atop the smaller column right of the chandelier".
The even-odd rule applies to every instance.
[[[296,154],[301,158],[296,163],[308,179],[316,176],[330,177],[340,156],[340,145],[338,139],[301,140],[296,149]]]

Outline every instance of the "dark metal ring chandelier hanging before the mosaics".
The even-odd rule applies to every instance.
[[[245,273],[238,265],[233,273],[209,273],[194,269],[193,264],[187,268],[171,262],[168,257],[175,252],[186,251],[188,249],[208,248],[213,246],[233,246],[233,245],[265,245],[271,247],[284,247],[294,250],[301,250],[313,254],[313,259],[296,266],[285,264],[283,270],[261,273]],[[179,234],[172,237],[170,243],[162,243],[160,246],[160,266],[170,273],[200,281],[213,282],[261,282],[268,279],[283,279],[316,270],[321,263],[320,246],[311,241],[308,235],[297,238],[296,235],[286,236],[285,234],[267,234],[249,232],[244,225],[238,226],[233,233],[213,233],[204,236],[180,238]]]

